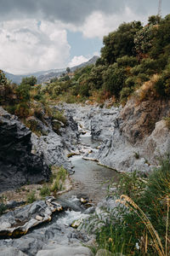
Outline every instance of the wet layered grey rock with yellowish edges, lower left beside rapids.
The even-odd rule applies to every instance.
[[[8,212],[0,217],[0,236],[23,236],[32,227],[51,220],[52,212],[61,211],[62,207],[53,199],[35,201],[31,205]]]

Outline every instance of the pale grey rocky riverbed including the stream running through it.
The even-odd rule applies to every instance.
[[[104,199],[105,181],[114,175],[116,177],[116,172],[111,169],[122,172],[139,170],[147,174],[156,166],[157,155],[165,154],[170,148],[169,130],[161,118],[168,114],[166,104],[160,106],[159,118],[147,107],[147,113],[156,119],[156,125],[145,135],[144,125],[148,125],[148,116],[141,113],[135,102],[129,102],[125,108],[76,104],[56,108],[65,110],[68,125],[61,126],[60,135],[49,127],[48,135],[37,137],[32,134],[29,154],[37,155],[48,165],[65,166],[68,172],[75,172],[72,176],[73,190],[54,201],[64,209],[61,212],[53,204],[47,205],[47,199],[36,201],[29,207],[35,211],[29,213],[26,210],[28,214],[22,225],[20,212],[25,211],[25,207],[3,215],[0,218],[4,236],[0,241],[0,255],[93,255],[88,247],[81,245],[81,242],[93,242],[93,237],[72,226],[76,228],[78,220],[87,218],[90,212],[100,212],[104,204],[115,207],[115,201]],[[19,227],[26,235],[20,234],[21,237],[16,238],[20,232],[15,230]],[[11,238],[9,234],[12,234]],[[99,255],[105,255],[105,252]]]

